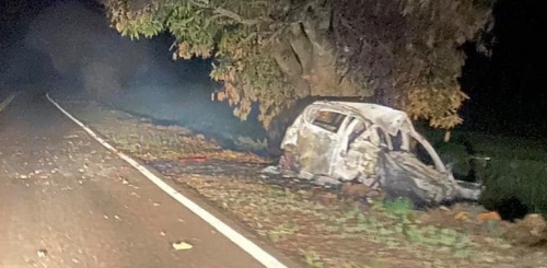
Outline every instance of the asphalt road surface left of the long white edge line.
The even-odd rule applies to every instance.
[[[0,160],[0,268],[263,267],[44,95],[1,112]]]

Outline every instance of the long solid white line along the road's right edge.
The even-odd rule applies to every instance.
[[[103,144],[106,149],[110,150],[112,152],[116,153],[119,158],[125,160],[127,163],[132,165],[135,168],[137,168],[142,175],[144,175],[147,178],[149,178],[152,183],[154,183],[158,187],[160,187],[163,191],[165,191],[167,195],[173,197],[175,200],[177,200],[179,203],[188,208],[191,212],[194,212],[196,215],[201,218],[203,221],[207,223],[211,224],[217,231],[222,233],[224,236],[226,236],[230,241],[232,241],[234,244],[240,246],[243,250],[248,253],[251,256],[253,256],[256,260],[258,260],[260,264],[263,264],[267,268],[287,268],[281,261],[279,261],[277,258],[265,252],[263,248],[257,246],[255,243],[251,242],[247,240],[245,236],[242,234],[237,233],[237,231],[233,230],[230,228],[228,224],[219,220],[217,217],[212,215],[209,213],[207,210],[203,208],[199,207],[197,203],[175,190],[173,187],[168,186],[165,182],[163,182],[160,177],[155,176],[152,172],[150,172],[147,167],[140,165],[135,161],[133,159],[129,158],[127,154],[118,151],[116,148],[113,145],[108,144],[104,139],[98,137],[93,130],[91,130],[89,127],[86,127],[84,124],[82,124],[80,120],[78,120],[75,117],[73,117],[71,114],[69,114],[67,110],[65,110],[57,102],[55,102],[51,97],[49,97],[49,94],[46,94],[47,100],[51,102],[62,114],[65,114],[68,118],[70,118],[72,121],[78,124],[83,130],[85,130],[91,137],[93,137],[96,141],[98,141],[101,144]]]

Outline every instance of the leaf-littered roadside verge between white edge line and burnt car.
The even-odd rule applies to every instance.
[[[528,246],[545,242],[543,220],[502,222],[476,205],[414,211],[359,185],[325,189],[263,174],[270,160],[223,150],[182,127],[154,126],[94,103],[60,104],[310,267],[547,267],[545,247]]]

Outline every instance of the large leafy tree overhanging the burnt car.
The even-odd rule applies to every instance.
[[[452,128],[467,98],[458,49],[491,26],[493,0],[103,0],[132,39],[163,32],[174,58],[214,57],[217,94],[245,119],[271,119],[306,96],[375,96]]]

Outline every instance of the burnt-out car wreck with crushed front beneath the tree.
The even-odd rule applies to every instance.
[[[480,184],[454,178],[404,112],[382,105],[314,102],[287,129],[281,149],[279,172],[359,182],[416,206],[478,200],[481,193]]]

